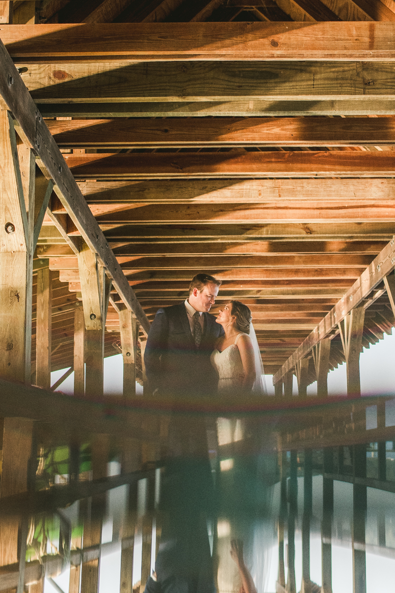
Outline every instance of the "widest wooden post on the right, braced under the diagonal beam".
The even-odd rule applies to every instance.
[[[343,352],[347,365],[347,394],[361,395],[359,379],[359,354],[362,350],[362,330],[364,329],[365,310],[356,307],[338,324],[342,339]]]

